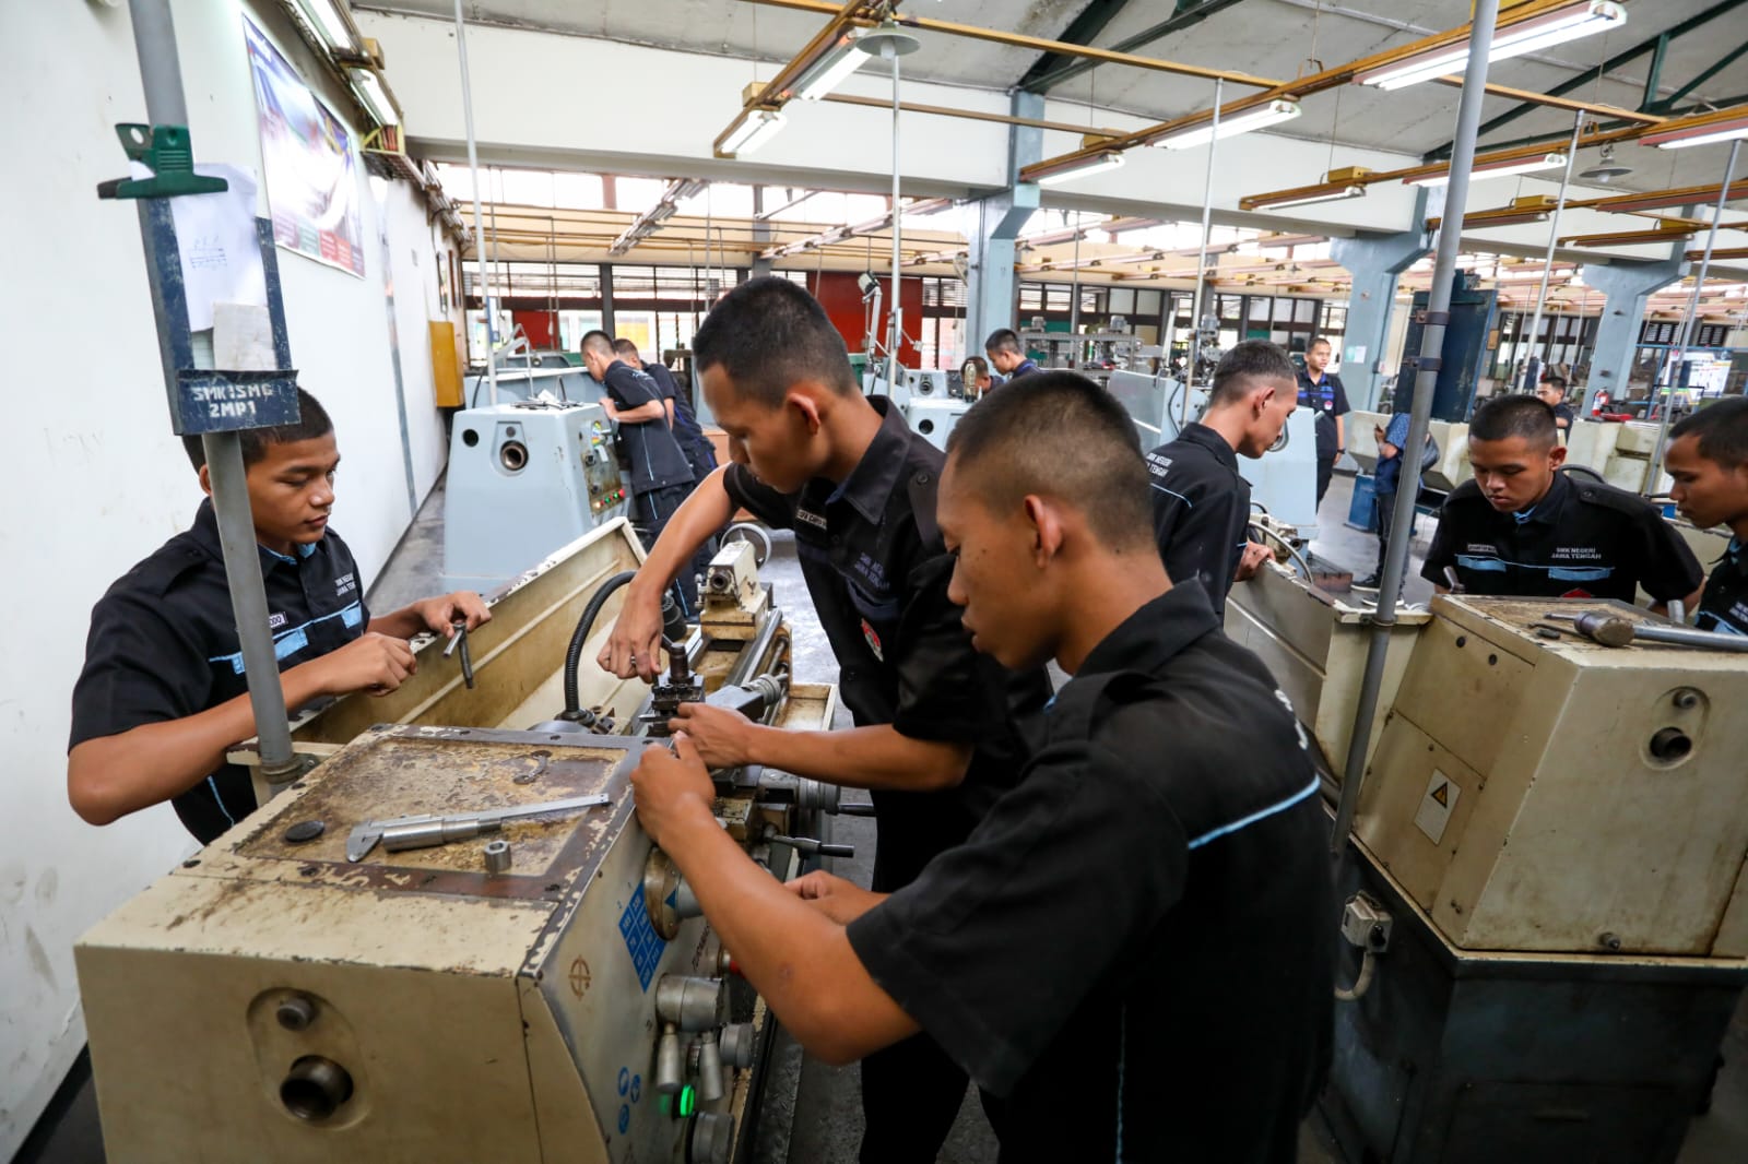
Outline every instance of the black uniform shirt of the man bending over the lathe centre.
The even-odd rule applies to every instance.
[[[911,432],[890,400],[871,404],[883,416],[879,433],[843,486],[815,479],[790,496],[745,465],[729,465],[722,482],[759,521],[795,531],[808,594],[857,725],[891,724],[912,739],[975,748],[953,792],[872,793],[874,886],[891,890],[963,841],[1019,779],[1030,750],[1016,717],[1037,715],[1051,683],[1042,669],[1014,675],[972,648],[960,608],[947,601],[953,559],[935,526],[946,458]]]

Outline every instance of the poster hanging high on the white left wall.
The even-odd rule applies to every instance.
[[[243,19],[273,241],[364,278],[364,222],[346,126]]]

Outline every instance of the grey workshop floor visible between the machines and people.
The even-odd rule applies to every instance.
[[[1323,500],[1323,526],[1311,551],[1332,563],[1370,572],[1377,542],[1342,524],[1353,479],[1337,475]],[[383,575],[369,589],[371,608],[395,610],[437,589],[442,575],[442,482],[421,507],[418,519],[402,538]],[[1433,523],[1421,519],[1416,530],[1416,561],[1411,565],[1404,598],[1425,603],[1432,587],[1414,572],[1426,551]],[[794,626],[795,675],[820,680],[836,675],[836,662],[801,579],[795,545],[788,535],[774,538],[771,561],[760,579],[774,585],[778,605]],[[1061,682],[1061,675],[1058,675]],[[848,715],[841,725],[848,725]],[[874,858],[874,821],[839,816],[834,835],[857,846],[855,858],[836,862],[836,872],[867,884]],[[1741,1164],[1748,1159],[1748,996],[1736,1014],[1724,1045],[1725,1068],[1713,1092],[1708,1115],[1697,1117],[1687,1134],[1678,1164]],[[860,1077],[855,1066],[830,1068],[806,1057],[785,1031],[778,1031],[767,1064],[764,1101],[750,1154],[750,1164],[853,1164],[862,1140]],[[26,1140],[14,1164],[103,1164],[98,1134],[96,1096],[89,1064],[80,1057],[61,1087],[49,1113]],[[940,1164],[993,1164],[995,1136],[984,1120],[975,1094],[967,1091],[960,1119],[940,1152]],[[1339,1159],[1313,1115],[1299,1136],[1301,1164],[1339,1164]]]

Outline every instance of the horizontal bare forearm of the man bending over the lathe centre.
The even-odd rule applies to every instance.
[[[912,739],[888,724],[797,732],[753,725],[753,762],[848,788],[935,792],[965,779],[970,745]]]

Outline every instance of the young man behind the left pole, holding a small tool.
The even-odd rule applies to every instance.
[[[351,551],[327,528],[339,451],[313,395],[297,391],[299,421],[241,433],[243,465],[267,619],[285,706],[355,690],[386,694],[413,673],[406,640],[472,629],[491,615],[456,591],[372,619]],[[210,496],[199,437],[184,440]],[[170,800],[210,844],[255,811],[246,769],[225,750],[255,734],[218,519],[201,502],[194,526],[129,570],[91,612],[86,666],[73,687],[66,797],[107,825]]]

